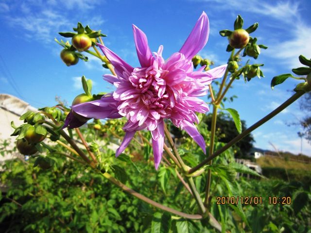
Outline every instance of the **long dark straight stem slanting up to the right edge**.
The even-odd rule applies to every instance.
[[[272,117],[279,114],[281,111],[283,111],[287,106],[292,104],[295,100],[299,99],[303,94],[305,94],[305,91],[298,90],[291,98],[286,100],[284,103],[282,103],[280,106],[278,106],[275,110],[273,110],[271,113],[269,113],[267,116],[264,116],[259,121],[257,121],[255,124],[253,124],[251,127],[246,129],[244,132],[233,138],[230,142],[228,142],[223,148],[220,150],[217,150],[215,153],[210,155],[207,159],[202,161],[197,166],[191,168],[188,172],[189,174],[195,172],[196,170],[200,169],[202,166],[206,165],[209,161],[223,153],[225,150],[229,149],[231,146],[236,144],[238,141],[240,141],[243,137],[245,137],[247,134],[251,133],[252,131],[256,130],[259,126],[266,123],[268,120],[270,120]]]

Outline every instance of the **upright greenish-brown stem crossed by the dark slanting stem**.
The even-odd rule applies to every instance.
[[[210,131],[210,143],[209,143],[209,156],[214,152],[214,142],[215,142],[215,133],[216,133],[216,121],[217,121],[217,110],[218,106],[213,105],[213,116],[211,122],[211,131]],[[209,165],[212,164],[212,161],[209,161]],[[207,181],[206,181],[206,189],[205,189],[205,200],[204,204],[207,206],[209,200],[209,191],[210,191],[210,183],[211,183],[211,170],[207,171]]]

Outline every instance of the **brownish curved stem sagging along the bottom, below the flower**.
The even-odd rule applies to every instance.
[[[186,213],[183,213],[183,212],[180,212],[178,210],[175,210],[173,208],[170,208],[170,207],[167,207],[167,206],[164,206],[154,200],[151,200],[145,196],[143,196],[142,194],[134,191],[133,189],[127,187],[125,184],[119,182],[118,180],[116,180],[114,177],[112,177],[109,173],[105,172],[105,173],[102,173],[103,176],[108,179],[111,183],[114,183],[116,184],[117,186],[119,186],[121,189],[123,189],[125,192],[133,195],[134,197],[137,197],[138,199],[148,203],[148,204],[151,204],[161,210],[164,210],[166,212],[169,212],[169,213],[172,213],[174,215],[178,215],[178,216],[181,216],[181,217],[186,217],[186,218],[189,218],[189,219],[201,219],[203,218],[201,215],[190,215],[190,214],[186,214]]]

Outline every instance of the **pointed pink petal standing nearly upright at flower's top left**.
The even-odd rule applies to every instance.
[[[133,24],[134,40],[139,63],[141,67],[150,67],[152,65],[152,52],[148,46],[147,36],[143,31]]]

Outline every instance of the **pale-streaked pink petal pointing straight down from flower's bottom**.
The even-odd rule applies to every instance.
[[[163,120],[157,125],[154,131],[151,131],[152,135],[152,148],[154,150],[154,158],[155,158],[155,169],[157,170],[162,154],[163,154],[163,147],[164,147],[164,123]]]

